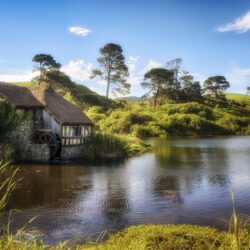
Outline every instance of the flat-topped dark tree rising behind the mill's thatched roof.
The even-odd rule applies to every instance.
[[[47,71],[61,68],[61,64],[56,62],[54,57],[48,54],[37,54],[33,57],[32,61],[37,64],[35,69],[40,72],[39,84]]]

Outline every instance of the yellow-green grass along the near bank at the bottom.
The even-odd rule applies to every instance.
[[[132,226],[114,234],[104,243],[88,243],[84,245],[61,243],[57,246],[48,246],[37,239],[25,240],[24,237],[17,237],[17,235],[5,235],[0,238],[0,249],[249,250],[249,233],[247,231],[240,231],[238,241],[239,244],[234,234],[210,227],[193,225],[141,225]]]

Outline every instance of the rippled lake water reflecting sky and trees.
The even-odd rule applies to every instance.
[[[250,137],[154,140],[155,152],[121,162],[22,165],[13,226],[30,218],[49,243],[96,238],[130,225],[226,228],[231,191],[250,215]]]

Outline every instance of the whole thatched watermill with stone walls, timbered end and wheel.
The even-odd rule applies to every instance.
[[[93,122],[49,86],[21,87],[0,83],[0,101],[30,114],[14,131],[22,159],[46,161],[80,158]]]

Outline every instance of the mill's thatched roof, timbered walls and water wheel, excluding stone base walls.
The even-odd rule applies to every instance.
[[[92,121],[51,87],[0,83],[1,99],[11,103],[18,112],[32,114],[36,143],[47,144],[52,158],[67,152],[67,147],[71,147],[70,151],[73,146],[80,147],[91,134]]]

